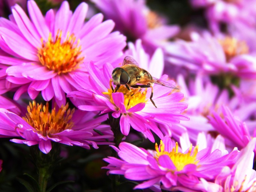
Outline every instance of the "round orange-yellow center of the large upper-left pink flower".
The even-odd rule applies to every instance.
[[[79,57],[81,54],[81,46],[78,46],[80,40],[76,41],[74,34],[68,33],[66,39],[63,40],[62,32],[58,31],[54,40],[50,33],[48,41],[44,42],[41,38],[41,42],[42,47],[37,52],[40,63],[59,75],[74,71],[84,60],[84,57]]]

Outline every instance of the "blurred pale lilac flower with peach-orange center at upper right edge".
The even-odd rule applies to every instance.
[[[192,41],[177,40],[166,46],[168,60],[193,72],[222,73],[239,78],[255,78],[255,56],[243,40],[221,34],[193,33]]]

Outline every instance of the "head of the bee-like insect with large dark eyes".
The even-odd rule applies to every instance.
[[[127,84],[130,80],[128,73],[121,67],[114,68],[112,78],[115,85]]]

